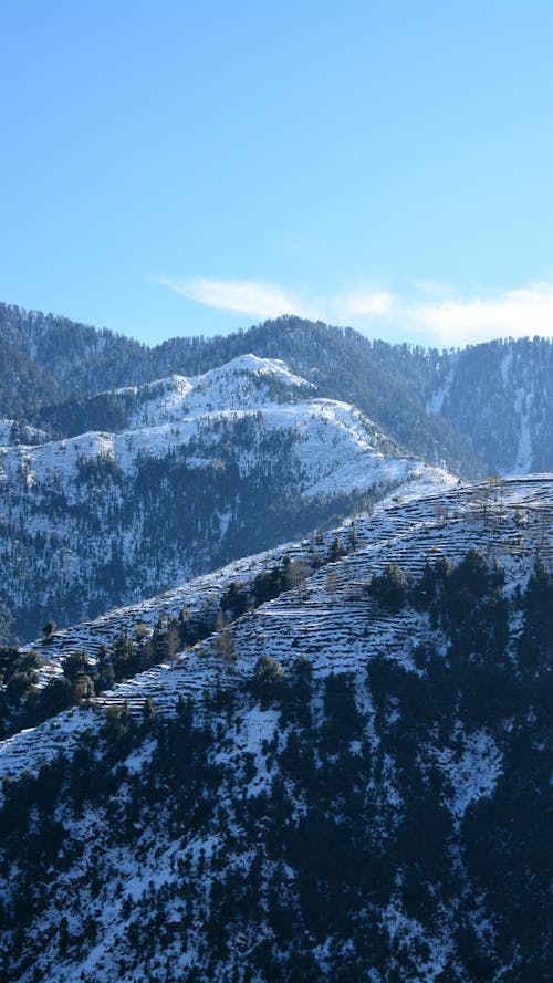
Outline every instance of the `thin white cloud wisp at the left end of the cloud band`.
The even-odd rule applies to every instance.
[[[319,317],[320,311],[275,283],[254,280],[208,280],[204,276],[171,280],[158,276],[157,282],[182,296],[223,311],[236,311],[252,317],[279,317],[298,314]]]

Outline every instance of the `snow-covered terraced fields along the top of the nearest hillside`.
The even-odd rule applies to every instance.
[[[416,487],[410,489],[411,494],[416,491]],[[226,616],[219,631],[103,692],[92,707],[127,707],[140,713],[146,701],[153,700],[158,712],[171,714],[179,700],[201,698],[215,682],[232,688],[248,680],[261,652],[284,667],[304,655],[312,660],[315,676],[322,677],[355,672],[372,656],[388,652],[413,668],[413,653],[424,642],[425,619],[414,608],[400,618],[383,608],[366,592],[371,578],[396,565],[416,579],[428,562],[444,557],[459,562],[470,550],[479,550],[502,564],[513,593],[528,582],[536,556],[553,567],[552,512],[551,477],[459,484],[405,503],[398,495],[389,496],[371,514],[362,513],[330,533],[247,557],[149,600],[54,630],[48,642],[30,644],[27,650],[40,653],[45,683],[62,674],[72,653],[84,651],[94,663],[103,646],[113,647],[124,636],[136,638],[137,626],[152,634],[161,624],[166,631],[184,610],[191,634],[196,628],[201,634],[202,625],[216,620],[221,603],[225,607],[231,585],[243,593],[244,606],[252,606],[255,578],[286,560],[303,567],[296,586],[234,621]],[[346,555],[332,560],[336,543]],[[229,634],[231,644],[221,653],[221,635],[228,638]],[[236,661],[228,658],[230,652],[238,656]],[[94,711],[85,715],[86,723],[81,721],[83,710],[73,710],[4,742],[0,776],[17,774],[22,762],[36,767],[50,760],[58,753],[60,729],[64,733],[69,728],[71,742],[75,729],[90,725]]]

